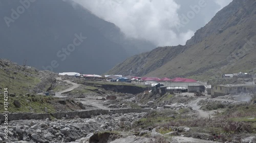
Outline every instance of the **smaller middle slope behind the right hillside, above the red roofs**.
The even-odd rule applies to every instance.
[[[152,72],[187,49],[187,46],[158,47],[151,52],[134,55],[108,71],[108,74],[142,76]]]

